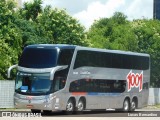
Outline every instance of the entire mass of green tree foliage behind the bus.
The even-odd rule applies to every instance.
[[[160,87],[160,21],[127,20],[116,12],[101,18],[85,33],[85,28],[65,10],[46,6],[42,0],[17,9],[13,0],[0,2],[0,79],[16,64],[29,44],[75,44],[105,49],[148,53],[151,56],[151,86]]]

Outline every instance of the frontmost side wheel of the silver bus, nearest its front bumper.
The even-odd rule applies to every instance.
[[[75,105],[72,99],[68,100],[66,106],[66,114],[72,114],[74,111]]]

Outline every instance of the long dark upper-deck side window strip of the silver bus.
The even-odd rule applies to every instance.
[[[149,57],[81,50],[77,52],[74,69],[83,66],[146,70]]]

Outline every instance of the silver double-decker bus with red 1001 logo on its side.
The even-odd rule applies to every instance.
[[[113,108],[148,103],[150,56],[63,44],[25,47],[17,65],[15,108],[32,112]]]

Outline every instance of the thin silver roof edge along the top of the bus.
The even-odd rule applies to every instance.
[[[108,52],[108,53],[118,53],[118,54],[138,55],[138,56],[150,57],[150,55],[146,54],[146,53],[137,53],[137,52],[131,52],[131,51],[122,51],[122,50],[109,50],[109,49],[82,47],[82,46],[78,46],[78,45],[69,45],[69,44],[34,44],[34,45],[27,46],[27,48],[76,49],[76,50],[89,50],[89,51],[97,51],[97,52],[99,51],[99,52]]]

